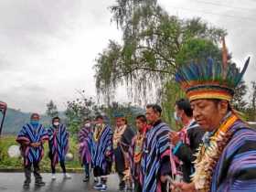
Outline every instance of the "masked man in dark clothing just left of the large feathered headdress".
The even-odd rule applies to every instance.
[[[186,99],[176,101],[174,117],[177,123],[182,123],[183,128],[179,132],[169,133],[169,138],[175,146],[173,154],[182,162],[183,180],[190,182],[190,176],[194,173],[195,153],[202,143],[205,131],[194,120],[193,110]]]

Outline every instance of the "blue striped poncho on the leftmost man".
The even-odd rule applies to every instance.
[[[38,163],[44,155],[43,144],[38,147],[32,147],[32,143],[42,143],[48,140],[48,133],[42,124],[33,127],[32,124],[27,123],[17,134],[16,142],[21,144],[21,154],[24,157],[24,164]]]

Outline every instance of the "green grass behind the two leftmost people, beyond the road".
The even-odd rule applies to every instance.
[[[1,169],[22,169],[23,167],[23,159],[22,157],[18,158],[10,158],[7,154],[7,150],[11,145],[18,145],[16,143],[16,136],[2,136],[0,138],[0,170]],[[72,171],[80,171],[81,165],[79,160],[79,151],[77,146],[77,141],[74,138],[69,139],[69,153],[74,155],[74,159],[72,161],[66,162],[66,167]],[[48,143],[44,144],[45,151],[44,157],[40,162],[40,168],[44,172],[50,171],[50,160],[48,158]],[[57,167],[59,171],[59,165]]]

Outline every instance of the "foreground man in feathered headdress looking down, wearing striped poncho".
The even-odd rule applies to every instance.
[[[187,93],[194,118],[208,132],[197,152],[192,182],[175,185],[181,191],[256,191],[256,132],[230,106],[249,59],[241,71],[227,60],[223,41],[222,63],[206,59],[177,69],[176,81]]]

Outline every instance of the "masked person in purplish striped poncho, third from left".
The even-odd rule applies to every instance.
[[[84,166],[85,170],[85,178],[83,179],[84,182],[88,182],[90,180],[90,165],[93,150],[92,136],[93,133],[91,121],[90,119],[86,119],[79,133],[80,163],[82,166]]]

